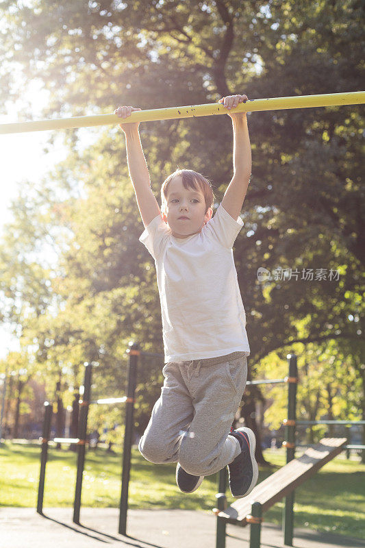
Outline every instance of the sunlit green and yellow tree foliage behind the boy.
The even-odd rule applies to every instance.
[[[362,87],[364,12],[357,0],[38,0],[32,7],[3,2],[1,10],[8,32],[0,97],[21,97],[16,63],[25,84],[40,79],[49,90],[45,117],[113,112],[122,104],[208,103],[236,92],[254,99]],[[253,375],[294,345],[303,356],[331,349],[362,378],[364,391],[363,123],[362,108],[352,105],[249,115],[253,175],[234,256]],[[179,166],[209,177],[221,201],[232,175],[227,117],[146,123],[140,134],[156,196]],[[162,351],[155,270],[138,245],[143,227],[121,131],[98,130],[84,151],[80,136],[64,132],[66,162],[36,195],[25,187],[14,204],[0,250],[2,317],[20,329],[24,344],[36,345],[39,360],[55,369],[60,360],[68,364],[73,383],[81,364],[95,360],[95,384],[119,375],[121,390],[126,373],[118,368],[129,340]],[[47,238],[59,258],[51,270],[31,258]],[[272,279],[259,282],[260,267]],[[331,269],[338,279],[328,279]],[[314,379],[318,362],[307,363]],[[160,369],[151,364],[143,384],[141,427],[158,397]]]

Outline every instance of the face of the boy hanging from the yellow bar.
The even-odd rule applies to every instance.
[[[165,223],[175,238],[187,238],[199,234],[213,214],[212,208],[205,213],[205,199],[201,190],[184,188],[181,175],[175,175],[168,185]],[[186,219],[181,219],[186,217]]]

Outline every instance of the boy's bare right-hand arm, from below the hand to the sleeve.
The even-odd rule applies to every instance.
[[[251,177],[251,144],[246,112],[231,116],[234,130],[234,176],[225,191],[222,206],[236,221]]]

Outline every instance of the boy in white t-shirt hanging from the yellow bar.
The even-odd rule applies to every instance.
[[[177,486],[184,493],[228,465],[229,488],[237,498],[251,493],[258,475],[252,430],[229,430],[250,353],[232,251],[251,175],[246,113],[229,114],[242,101],[246,95],[218,101],[232,119],[234,177],[213,217],[212,185],[188,169],[178,169],[162,184],[161,213],[139,124],[120,124],[144,224],[140,241],[155,260],[164,338],[164,386],[138,449],[156,464],[177,462]],[[114,113],[125,118],[136,110],[123,106]]]

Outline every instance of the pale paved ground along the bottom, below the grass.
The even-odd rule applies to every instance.
[[[0,508],[1,548],[215,548],[216,518],[194,510],[128,510],[127,534],[118,530],[117,508],[81,508],[72,523],[71,508]],[[249,527],[227,525],[226,548],[247,548]],[[296,548],[365,548],[354,538],[296,529]],[[264,523],[262,548],[282,548],[280,527]]]

